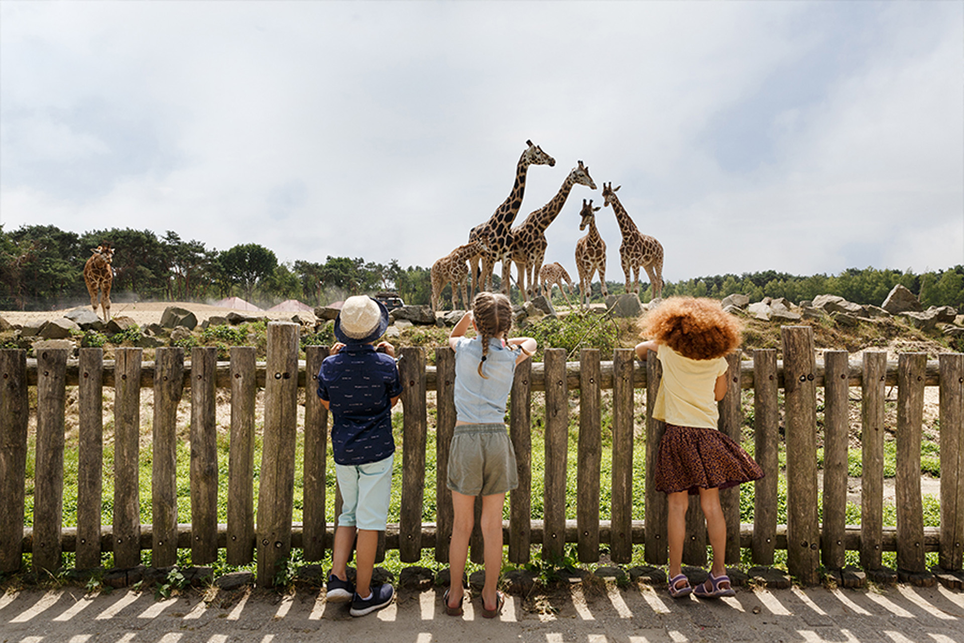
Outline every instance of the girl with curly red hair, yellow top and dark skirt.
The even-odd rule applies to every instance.
[[[753,458],[716,430],[716,402],[727,389],[724,356],[740,344],[740,323],[714,300],[671,297],[649,312],[642,325],[641,336],[652,338],[636,345],[636,355],[646,360],[649,351],[656,351],[662,364],[653,417],[666,422],[666,432],[659,442],[654,482],[668,496],[670,596],[733,596],[719,490],[763,477]],[[707,518],[713,562],[707,582],[694,590],[682,564],[687,496],[696,494]]]

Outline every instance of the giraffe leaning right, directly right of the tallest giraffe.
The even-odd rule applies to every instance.
[[[519,272],[518,284],[522,290],[522,301],[528,301],[530,289],[533,297],[539,292],[539,271],[543,259],[546,258],[546,248],[549,247],[546,228],[549,228],[549,224],[559,215],[576,183],[589,186],[590,190],[596,189],[596,183],[589,175],[589,168],[583,166],[582,161],[566,176],[552,201],[530,213],[521,225],[512,228],[512,260]]]

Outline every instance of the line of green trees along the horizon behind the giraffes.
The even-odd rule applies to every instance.
[[[115,248],[112,298],[139,300],[212,301],[239,296],[262,308],[286,299],[317,306],[359,293],[397,292],[408,304],[428,304],[430,269],[403,268],[397,259],[387,264],[363,258],[328,256],[323,263],[279,262],[258,244],[241,244],[226,251],[184,240],[173,230],[159,236],[151,230],[111,228],[77,234],[56,226],[0,226],[0,308],[38,310],[76,306],[88,300],[84,263],[102,242]],[[495,278],[496,286],[498,278]],[[693,295],[723,298],[734,293],[751,301],[786,297],[798,303],[817,295],[840,295],[857,304],[879,306],[891,289],[903,284],[927,306],[964,308],[964,265],[915,274],[911,270],[848,268],[839,275],[794,276],[767,270],[742,275],[714,275],[667,281],[663,296]],[[606,281],[610,294],[624,291],[622,281]],[[512,286],[515,291],[515,285]],[[447,296],[450,286],[446,286]],[[642,298],[652,288],[644,284]],[[597,282],[594,294],[600,298]]]

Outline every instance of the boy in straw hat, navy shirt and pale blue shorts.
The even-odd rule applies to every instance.
[[[351,615],[363,616],[391,603],[388,583],[371,584],[378,532],[385,530],[391,494],[395,442],[391,407],[402,392],[395,349],[374,342],[388,328],[388,309],[367,295],[345,300],[335,319],[331,355],[318,371],[318,397],[334,415],[332,447],[341,490],[327,600],[351,601]],[[348,580],[348,558],[356,546],[355,585]]]

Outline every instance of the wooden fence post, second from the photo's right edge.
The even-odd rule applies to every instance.
[[[921,575],[924,567],[924,503],[921,500],[921,433],[924,424],[926,353],[897,360],[897,573]],[[929,575],[928,575],[929,576]],[[907,577],[903,578],[904,580]]]

